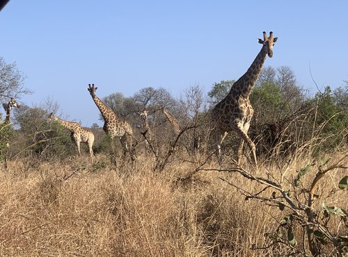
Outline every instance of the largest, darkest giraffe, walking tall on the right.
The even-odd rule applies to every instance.
[[[249,95],[258,79],[266,57],[269,56],[271,58],[273,56],[273,46],[277,39],[273,37],[273,32],[269,33],[269,37],[267,37],[266,32],[263,32],[263,40],[258,39],[258,42],[262,44],[258,56],[256,56],[246,73],[232,85],[228,95],[212,109],[210,115],[210,124],[212,126],[210,144],[214,148],[219,161],[221,161],[221,143],[223,139],[230,131],[236,131],[240,137],[237,163],[239,164],[243,144],[246,141],[252,151],[253,161],[256,167],[258,167],[255,144],[248,137],[248,129],[251,117],[253,117],[253,107],[249,101]]]

